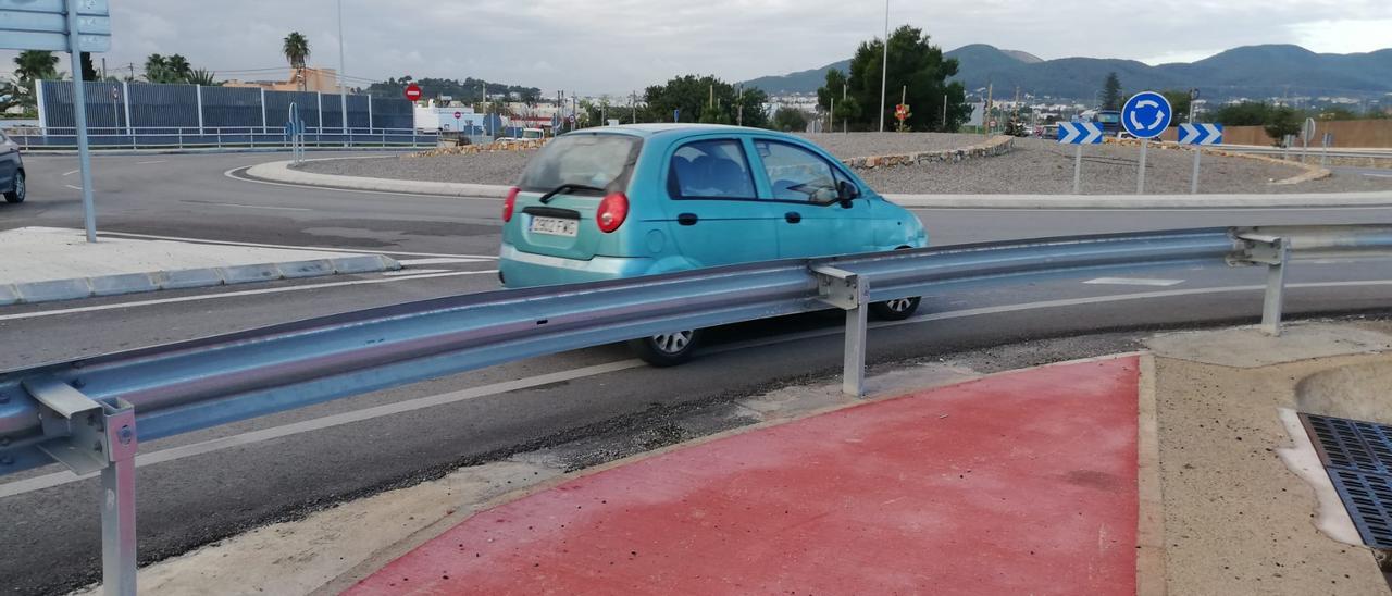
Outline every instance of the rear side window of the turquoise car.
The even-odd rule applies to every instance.
[[[739,141],[696,141],[672,153],[668,191],[677,199],[753,199],[754,178]]]

